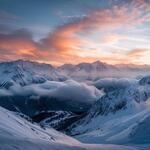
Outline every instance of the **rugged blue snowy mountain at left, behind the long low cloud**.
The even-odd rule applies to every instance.
[[[64,81],[66,79],[48,64],[23,60],[0,63],[1,88],[9,88],[14,83],[24,86],[31,83],[44,83],[46,80]]]

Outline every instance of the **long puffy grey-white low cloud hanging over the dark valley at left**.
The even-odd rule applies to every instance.
[[[0,89],[0,96],[46,96],[49,98],[56,98],[59,100],[71,100],[77,102],[93,103],[100,96],[102,92],[94,86],[88,86],[85,83],[78,83],[73,80],[65,82],[46,81],[42,84],[31,84],[27,86],[20,86],[15,84],[8,90]]]

